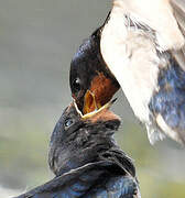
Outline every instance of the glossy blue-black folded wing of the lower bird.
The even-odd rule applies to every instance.
[[[91,163],[17,198],[139,198],[138,183],[130,176],[116,176],[115,170],[111,162]]]

